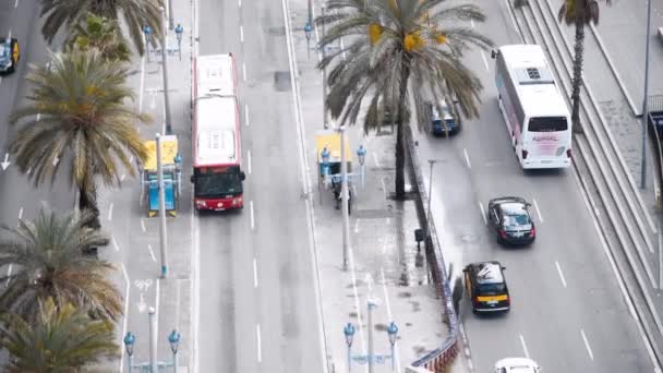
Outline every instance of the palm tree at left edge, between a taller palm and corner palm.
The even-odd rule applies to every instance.
[[[59,218],[41,209],[34,220],[21,219],[16,228],[0,228],[0,310],[34,317],[39,301],[52,297],[58,308],[72,303],[94,317],[118,320],[122,297],[106,279],[113,266],[83,250],[107,238],[86,227],[93,218],[84,212]]]

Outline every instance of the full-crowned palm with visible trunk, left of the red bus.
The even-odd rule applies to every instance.
[[[10,143],[20,170],[32,169],[28,178],[40,184],[46,179],[52,182],[60,165],[68,163],[70,182],[80,191],[80,208],[95,213],[92,228],[100,227],[95,177],[106,185],[119,185],[122,168],[135,176],[131,157],[144,161],[147,156],[134,122],[149,117],[126,106],[133,98],[125,85],[126,69],[98,52],[55,55],[50,69],[32,68],[32,104],[10,117],[12,123],[25,119]]]

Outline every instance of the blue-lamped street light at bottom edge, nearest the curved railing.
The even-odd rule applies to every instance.
[[[352,354],[352,340],[354,339],[354,326],[351,323],[346,324],[343,327],[343,335],[346,337],[346,345],[348,346],[348,372],[352,371],[352,361],[359,363],[366,362],[369,364],[369,373],[373,373],[373,366],[375,364],[382,364],[385,360],[391,360],[391,371],[396,369],[396,338],[398,336],[398,327],[396,323],[391,322],[387,327],[387,336],[389,338],[390,353],[389,354],[376,354],[373,351],[373,315],[372,309],[377,306],[375,301],[369,300],[366,302],[369,308],[369,353],[367,354]]]

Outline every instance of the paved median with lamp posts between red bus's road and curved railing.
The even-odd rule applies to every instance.
[[[330,190],[318,189],[314,136],[323,131],[322,76],[315,69],[317,55],[306,51],[303,26],[306,22],[306,1],[290,1],[293,43],[299,65],[303,118],[306,125],[306,149],[311,184],[315,201],[315,239],[317,268],[329,372],[347,372],[347,346],[343,326],[355,327],[353,354],[367,351],[366,299],[377,300],[373,309],[375,353],[388,354],[386,328],[390,322],[398,326],[396,342],[397,372],[438,347],[448,327],[442,321],[442,303],[429,285],[425,260],[418,253],[414,229],[419,228],[414,202],[396,202],[394,190],[396,139],[387,134],[366,137],[361,127],[348,130],[353,156],[352,172],[359,172],[355,151],[360,144],[367,149],[365,184],[355,180],[352,214],[350,216],[349,270],[342,270],[342,217],[335,208]],[[317,10],[320,12],[320,10]],[[311,46],[315,45],[315,36]],[[409,181],[407,181],[409,183]],[[354,362],[352,368],[366,369]],[[390,371],[387,360],[376,365],[375,372]]]

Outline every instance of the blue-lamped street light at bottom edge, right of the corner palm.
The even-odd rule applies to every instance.
[[[138,369],[141,372],[158,373],[165,368],[172,366],[173,373],[178,372],[178,349],[180,346],[180,334],[177,330],[172,330],[168,336],[168,344],[170,344],[170,352],[172,352],[172,361],[164,362],[157,361],[157,342],[156,342],[156,311],[154,308],[149,308],[149,361],[134,364],[133,362],[133,350],[136,342],[136,336],[128,332],[124,336],[124,350],[129,356],[128,368],[129,373],[132,373],[133,369]]]

